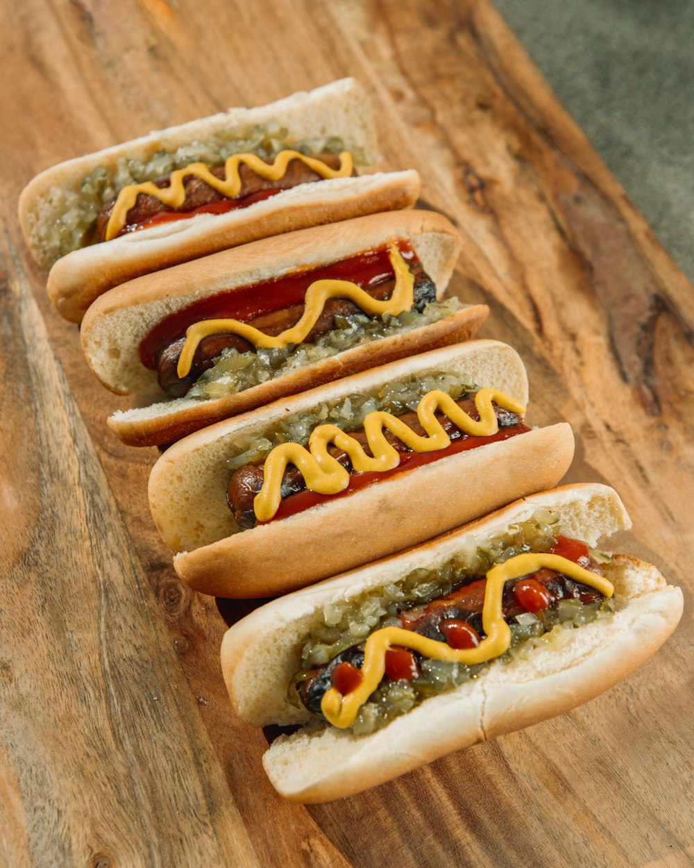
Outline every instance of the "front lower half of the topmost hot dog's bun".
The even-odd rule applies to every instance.
[[[57,260],[49,272],[49,297],[65,319],[79,323],[95,299],[128,280],[260,238],[409,208],[419,187],[413,169],[317,181],[228,214],[199,214],[141,229]]]

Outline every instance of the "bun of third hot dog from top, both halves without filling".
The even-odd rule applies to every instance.
[[[527,375],[518,354],[497,341],[469,341],[276,401],[174,444],[154,465],[149,502],[180,577],[193,589],[217,596],[283,594],[430,539],[564,476],[573,457],[573,434],[560,423],[232,532],[226,503],[232,444],[265,436],[289,414],[312,411],[322,402],[339,404],[350,394],[375,393],[385,383],[430,372],[451,372],[462,382],[494,386],[527,402]]]

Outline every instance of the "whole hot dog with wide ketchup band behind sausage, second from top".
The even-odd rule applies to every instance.
[[[140,406],[158,390],[159,403],[116,413],[109,427],[130,444],[167,444],[275,398],[468,339],[487,307],[439,300],[459,246],[439,214],[372,214],[110,291],[82,322],[88,363],[109,389]]]

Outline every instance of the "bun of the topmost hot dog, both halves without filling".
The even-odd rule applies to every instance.
[[[113,175],[124,157],[146,163],[160,151],[173,153],[226,130],[245,131],[270,122],[286,129],[287,142],[330,136],[343,139],[363,154],[365,165],[359,167],[362,177],[304,184],[238,211],[200,214],[127,233],[81,247],[56,261],[53,227],[73,207],[82,181],[95,168],[102,167]],[[256,109],[228,109],[62,162],[24,188],[19,218],[36,261],[45,268],[52,266],[50,298],[63,317],[80,322],[97,296],[141,274],[273,234],[414,205],[419,194],[416,172],[370,174],[377,160],[369,97],[358,82],[346,78]]]

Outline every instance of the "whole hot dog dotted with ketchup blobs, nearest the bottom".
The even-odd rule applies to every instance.
[[[265,753],[273,786],[337,799],[612,687],[683,607],[655,567],[592,548],[629,524],[613,490],[566,486],[234,624],[221,660],[235,711],[309,724]]]

